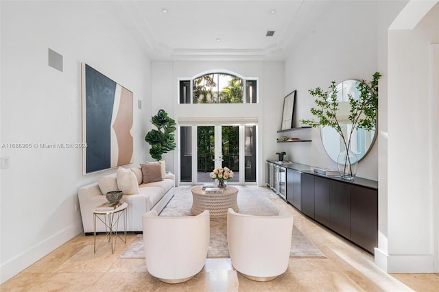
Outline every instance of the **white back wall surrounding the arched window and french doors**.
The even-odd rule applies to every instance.
[[[177,104],[178,78],[193,77],[204,71],[222,69],[244,77],[259,78],[258,104]],[[276,131],[281,127],[283,107],[283,62],[153,62],[152,112],[160,108],[178,121],[180,117],[256,117],[259,121],[258,184],[263,184],[266,159],[276,158]],[[178,133],[176,133],[178,139]],[[177,177],[178,149],[165,154],[167,169],[173,161]],[[261,163],[262,162],[262,163]]]

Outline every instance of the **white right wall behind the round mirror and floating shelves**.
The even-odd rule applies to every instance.
[[[379,1],[333,1],[320,16],[316,16],[318,21],[307,25],[309,31],[296,43],[285,62],[285,93],[298,90],[297,125],[300,125],[300,119],[313,118],[309,109],[315,104],[309,89],[320,87],[328,90],[331,81],[371,80],[376,71],[386,75],[385,65],[379,63],[381,60],[381,64],[385,64],[385,60],[379,52],[385,49],[385,32],[396,12],[383,16],[383,8],[379,5]],[[396,1],[388,5],[396,11],[401,9],[401,3]],[[381,85],[380,82],[380,97],[381,91],[385,90]],[[320,130],[315,128],[294,134],[301,135],[305,131],[311,132],[312,143],[281,145],[287,155],[305,165],[336,169],[335,162],[324,151]],[[359,162],[357,175],[378,179],[377,143]]]

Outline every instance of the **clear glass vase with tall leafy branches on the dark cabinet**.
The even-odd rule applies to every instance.
[[[300,122],[311,127],[333,127],[335,132],[340,135],[342,139],[342,147],[344,151],[351,151],[351,138],[354,131],[358,129],[375,130],[377,123],[377,109],[378,109],[378,80],[381,77],[379,72],[376,72],[371,82],[362,80],[357,84],[358,95],[348,94],[348,103],[350,106],[350,114],[347,119],[351,122],[350,127],[342,127],[340,125],[340,117],[337,116],[339,110],[339,95],[335,81],[331,82],[329,91],[323,91],[320,87],[310,89],[309,93],[316,97],[315,103],[318,108],[311,108],[311,114],[318,118],[317,121],[301,120]],[[337,158],[337,167],[342,169],[340,175],[346,180],[353,180],[357,171],[358,159],[351,151],[351,154],[339,155]],[[341,165],[340,165],[341,164]]]

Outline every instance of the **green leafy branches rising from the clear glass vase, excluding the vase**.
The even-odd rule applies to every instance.
[[[310,125],[311,127],[333,127],[335,131],[340,134],[344,143],[344,149],[348,151],[351,147],[351,136],[354,130],[375,129],[378,110],[378,80],[380,77],[381,74],[376,72],[370,83],[361,80],[357,85],[357,90],[359,90],[358,99],[354,99],[352,95],[348,95],[349,105],[351,106],[351,112],[348,119],[351,121],[352,127],[351,132],[348,133],[347,137],[343,133],[342,127],[337,119],[338,90],[335,81],[331,82],[329,91],[323,91],[320,87],[308,90],[313,97],[316,97],[314,102],[317,107],[311,108],[311,114],[316,117],[316,120],[300,120],[300,123]]]

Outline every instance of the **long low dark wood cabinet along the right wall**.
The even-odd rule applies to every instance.
[[[347,182],[319,175],[309,166],[287,167],[287,202],[311,219],[364,250],[378,245],[378,182],[355,178]]]

